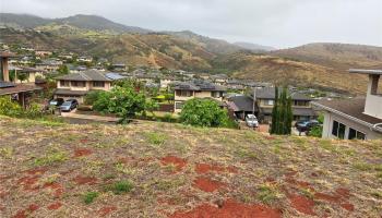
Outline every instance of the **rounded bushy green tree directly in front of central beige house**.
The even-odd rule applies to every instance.
[[[180,121],[196,126],[227,126],[227,111],[210,99],[194,98],[186,101],[180,113]]]

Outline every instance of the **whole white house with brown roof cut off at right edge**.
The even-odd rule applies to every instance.
[[[382,70],[350,70],[366,74],[369,85],[366,98],[320,100],[313,102],[324,112],[322,137],[342,140],[382,138]]]

